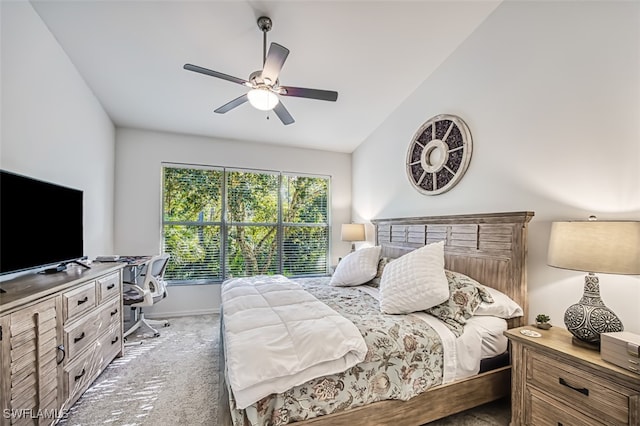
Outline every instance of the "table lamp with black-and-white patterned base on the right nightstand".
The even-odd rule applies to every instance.
[[[622,331],[615,313],[600,297],[598,273],[640,274],[640,221],[553,222],[547,264],[588,272],[584,294],[567,309],[564,323],[573,343],[599,350],[600,334]]]

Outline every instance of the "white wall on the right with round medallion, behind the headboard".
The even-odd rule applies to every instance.
[[[406,177],[414,132],[449,113],[473,157],[451,191]],[[354,220],[535,212],[529,312],[564,327],[584,274],[546,265],[556,220],[640,220],[640,3],[505,2],[353,154]],[[383,195],[381,195],[383,194]],[[600,276],[605,303],[640,332],[640,276]]]

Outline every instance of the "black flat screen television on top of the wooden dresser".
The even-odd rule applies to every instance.
[[[63,270],[83,258],[82,198],[80,190],[0,170],[0,275]]]

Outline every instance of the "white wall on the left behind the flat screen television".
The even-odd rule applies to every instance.
[[[84,191],[84,252],[110,253],[114,126],[31,4],[0,11],[0,167]]]

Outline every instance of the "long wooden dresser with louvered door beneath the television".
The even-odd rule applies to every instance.
[[[123,355],[122,267],[0,283],[0,425],[55,422]]]

